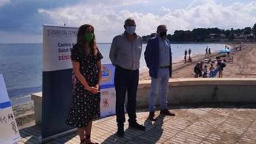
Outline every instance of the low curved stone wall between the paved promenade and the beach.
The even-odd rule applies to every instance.
[[[151,80],[140,81],[137,108],[147,108]],[[41,123],[42,93],[31,95],[34,100],[35,122]],[[169,104],[190,104],[209,102],[256,103],[256,79],[254,78],[214,78],[214,79],[170,79]],[[159,100],[157,100],[157,105]]]

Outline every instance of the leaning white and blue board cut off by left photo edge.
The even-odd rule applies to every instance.
[[[21,139],[8,97],[3,74],[0,74],[0,143],[10,144]]]

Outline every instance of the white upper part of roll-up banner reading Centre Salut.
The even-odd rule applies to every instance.
[[[71,49],[76,43],[78,28],[44,25],[43,71],[72,68]]]

